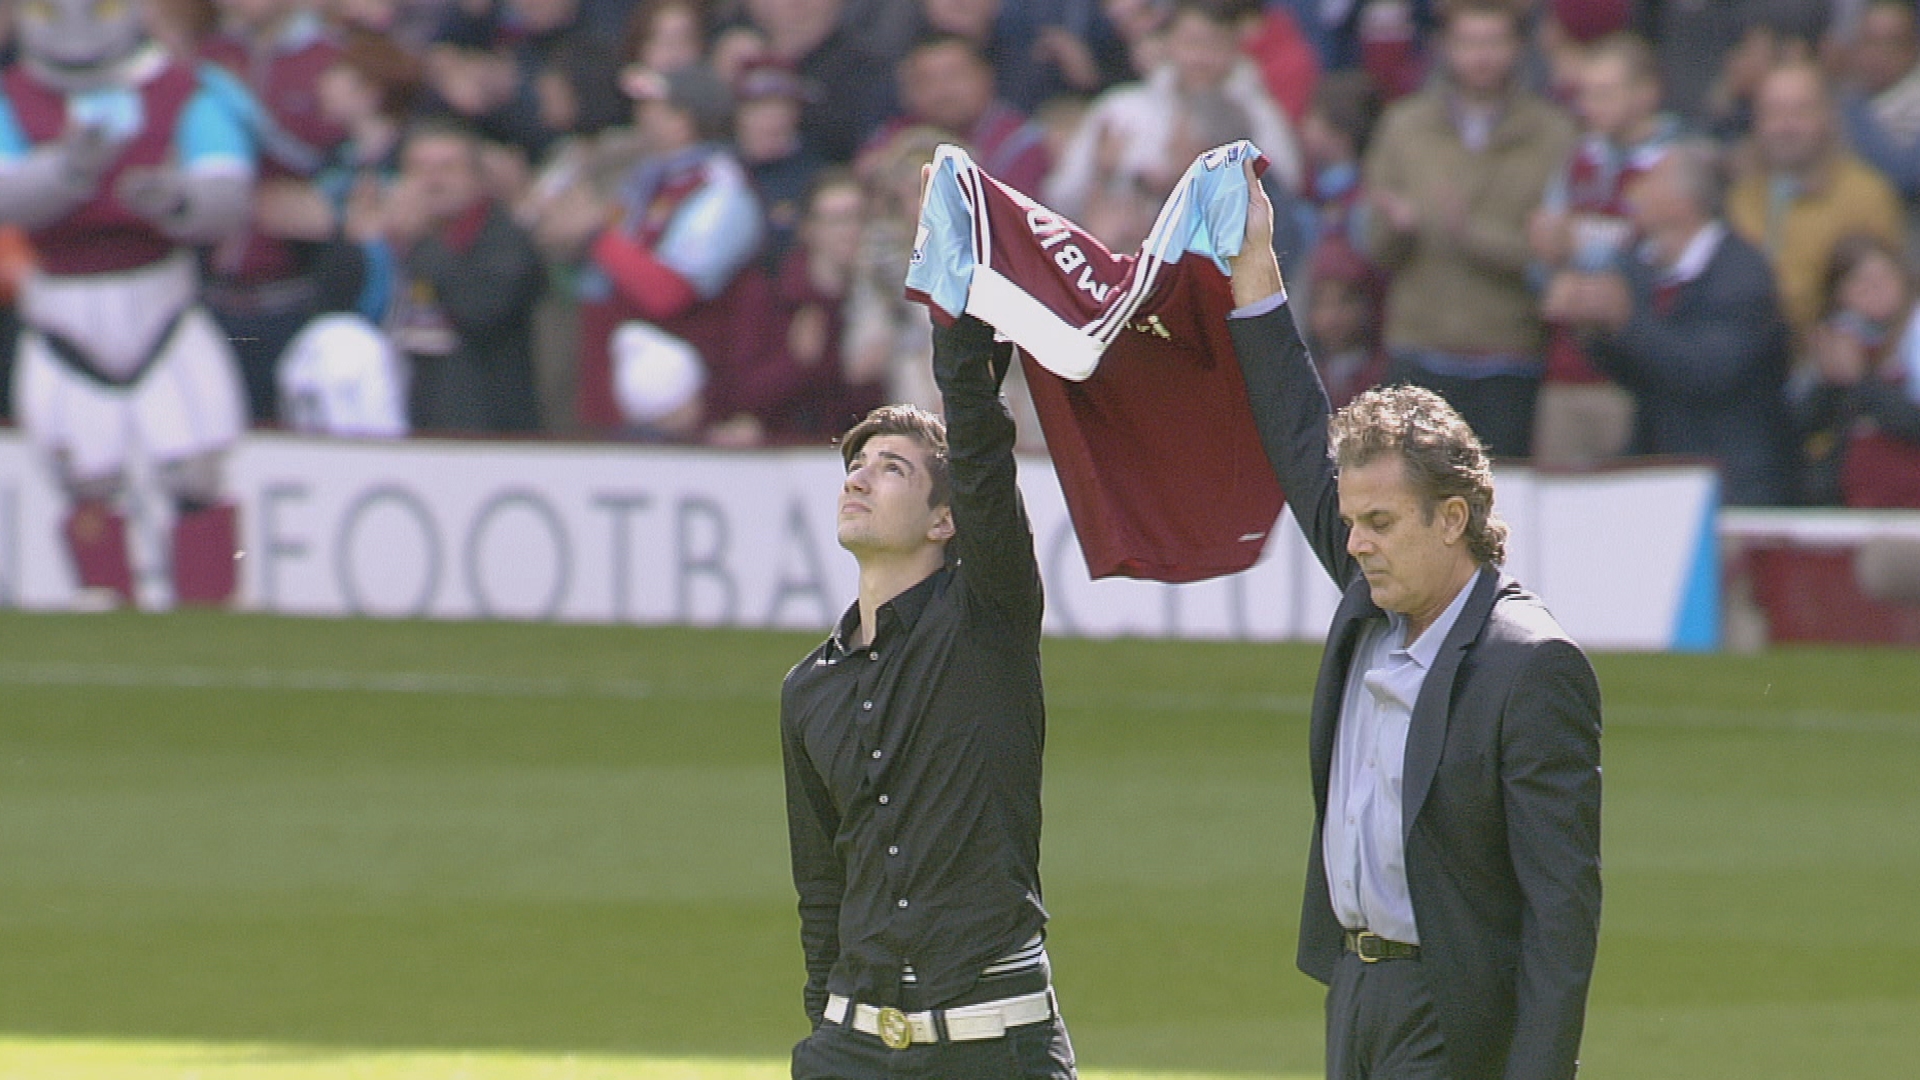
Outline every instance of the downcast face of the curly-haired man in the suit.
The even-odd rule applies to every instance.
[[[1398,455],[1340,467],[1346,552],[1359,561],[1382,611],[1430,615],[1452,603],[1459,530],[1444,507],[1428,511]]]

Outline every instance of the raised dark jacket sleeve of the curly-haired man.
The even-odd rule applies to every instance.
[[[1281,304],[1263,315],[1229,319],[1227,329],[1246,379],[1254,429],[1286,492],[1286,505],[1321,567],[1346,588],[1357,567],[1346,553],[1348,527],[1340,521],[1340,492],[1327,448],[1332,405],[1294,327],[1292,307]]]

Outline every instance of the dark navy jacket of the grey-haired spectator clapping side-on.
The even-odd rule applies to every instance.
[[[1653,269],[1632,259],[1634,315],[1590,354],[1638,402],[1634,450],[1720,463],[1722,500],[1780,505],[1793,490],[1786,379],[1789,336],[1766,256],[1728,231],[1707,269],[1655,304]]]

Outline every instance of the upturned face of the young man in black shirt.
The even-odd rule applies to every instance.
[[[927,505],[929,454],[904,434],[876,434],[847,463],[837,532],[856,557],[910,555],[952,536],[952,513]]]

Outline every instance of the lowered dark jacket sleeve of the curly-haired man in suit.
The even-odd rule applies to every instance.
[[[1599,942],[1599,682],[1576,646],[1548,642],[1528,657],[1501,730],[1521,886],[1507,1080],[1572,1080]]]

